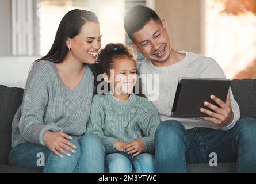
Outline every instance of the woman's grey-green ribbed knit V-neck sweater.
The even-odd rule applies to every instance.
[[[29,72],[23,102],[12,123],[12,147],[29,141],[45,145],[46,131],[83,135],[90,117],[94,76],[88,66],[74,91],[64,85],[55,64],[41,60]]]

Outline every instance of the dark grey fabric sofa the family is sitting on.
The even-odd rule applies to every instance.
[[[231,89],[240,106],[241,117],[256,118],[256,79],[231,81]],[[11,126],[13,116],[22,102],[23,89],[0,85],[0,173],[1,172],[40,172],[10,166],[8,155],[11,149]],[[234,172],[236,163],[188,164],[189,172]]]

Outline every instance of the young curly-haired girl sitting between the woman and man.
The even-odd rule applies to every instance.
[[[100,85],[95,86],[98,94],[93,98],[87,133],[101,138],[105,166],[111,173],[131,172],[132,166],[138,173],[154,172],[154,134],[160,121],[154,106],[132,93],[136,63],[128,47],[106,45],[95,64],[95,80],[100,77],[97,74],[103,74],[110,91],[100,95]]]

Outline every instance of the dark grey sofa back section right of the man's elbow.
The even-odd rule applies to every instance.
[[[241,118],[256,118],[256,79],[232,80],[231,89],[239,104]]]

